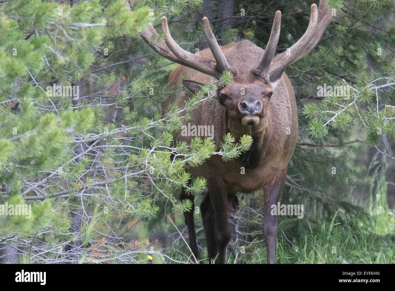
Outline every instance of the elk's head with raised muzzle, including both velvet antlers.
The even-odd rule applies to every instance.
[[[252,126],[259,129],[265,126],[268,105],[284,69],[307,55],[316,46],[330,21],[330,10],[324,3],[320,4],[319,11],[316,4],[312,4],[310,21],[305,34],[287,51],[274,56],[281,24],[281,12],[276,11],[269,41],[260,63],[257,67],[251,68],[248,75],[239,74],[238,68],[229,65],[210,28],[207,17],[203,17],[203,28],[215,61],[190,53],[178,46],[170,35],[166,17],[162,17],[162,30],[166,35],[166,40],[159,42],[156,38],[152,41],[153,36],[157,36],[153,27],[144,30],[141,36],[151,48],[167,59],[213,76],[217,80],[222,72],[226,70],[231,72],[234,76],[233,82],[225,87],[217,86],[217,90],[210,93],[226,108],[229,121],[231,121],[229,123],[233,125],[238,123],[237,127],[241,128]],[[193,93],[203,86],[193,80],[184,80],[182,83]]]

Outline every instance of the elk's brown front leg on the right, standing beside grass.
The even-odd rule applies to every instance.
[[[276,263],[276,240],[278,221],[277,215],[271,215],[271,205],[276,205],[280,202],[282,196],[282,189],[287,177],[287,170],[281,170],[275,178],[263,188],[264,195],[264,217],[263,217],[263,234],[266,241],[267,263]]]

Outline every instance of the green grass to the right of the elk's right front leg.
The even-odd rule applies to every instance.
[[[388,219],[389,215],[384,215]],[[383,221],[378,219],[379,221]],[[278,237],[277,262],[282,264],[380,264],[395,263],[395,236],[379,235],[352,227],[349,223],[314,221],[320,229],[299,238],[290,245],[283,235]],[[309,224],[311,222],[308,221]],[[392,219],[393,226],[393,219]],[[374,227],[374,225],[373,225]]]

